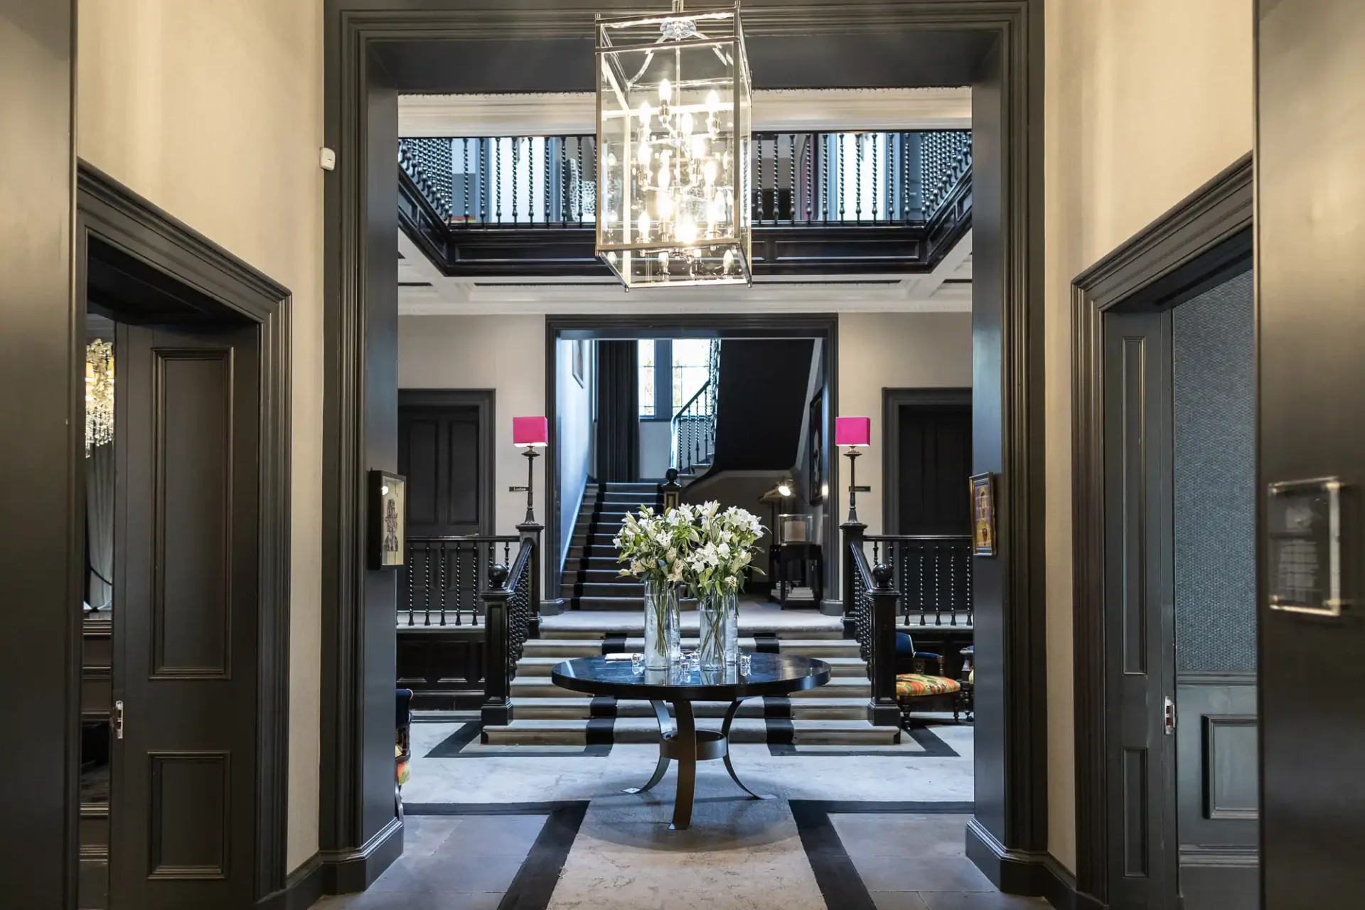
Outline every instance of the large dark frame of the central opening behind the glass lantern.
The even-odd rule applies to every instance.
[[[325,142],[337,153],[337,169],[325,183],[319,839],[330,864],[351,869],[354,887],[373,881],[401,849],[393,843],[401,830],[386,814],[394,588],[392,577],[367,572],[362,559],[364,471],[392,469],[396,458],[396,96],[591,89],[592,14],[636,5],[325,4]],[[973,220],[981,228],[973,278],[973,334],[981,341],[973,366],[973,468],[998,478],[1001,554],[975,570],[976,813],[968,854],[1007,891],[1065,891],[1065,873],[1044,862],[1043,3],[749,0],[744,25],[755,48],[770,45],[763,72],[785,67],[786,87],[885,87],[889,78],[972,83]],[[801,52],[777,53],[778,38]],[[868,53],[891,40],[902,41],[894,59]],[[464,50],[448,44],[442,50],[449,41],[464,41]],[[500,41],[506,44],[498,48]]]

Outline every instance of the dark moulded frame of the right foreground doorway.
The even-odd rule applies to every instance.
[[[1072,281],[1076,879],[1099,905],[1108,902],[1110,845],[1121,834],[1108,812],[1118,782],[1095,745],[1107,742],[1107,699],[1122,673],[1106,658],[1104,632],[1118,608],[1104,596],[1104,314],[1186,299],[1245,270],[1252,202],[1246,154]]]

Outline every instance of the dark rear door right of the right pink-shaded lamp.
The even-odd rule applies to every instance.
[[[972,404],[901,401],[894,533],[966,535],[972,529]]]

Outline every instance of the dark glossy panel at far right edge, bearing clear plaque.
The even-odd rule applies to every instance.
[[[1355,907],[1365,895],[1362,60],[1358,0],[1257,3],[1257,667],[1268,910]],[[1295,580],[1330,589],[1325,540],[1294,573],[1276,577],[1269,566],[1268,484],[1314,478],[1343,484],[1339,553],[1343,593],[1354,603],[1340,617],[1268,606]]]

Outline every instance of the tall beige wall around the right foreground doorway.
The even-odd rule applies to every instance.
[[[1252,147],[1252,0],[1047,0],[1048,849],[1076,868],[1070,282]]]

